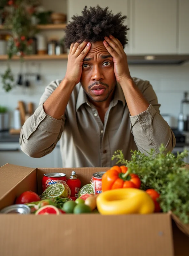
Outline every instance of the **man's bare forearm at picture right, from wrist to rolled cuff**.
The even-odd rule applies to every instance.
[[[127,102],[131,116],[139,115],[140,113],[147,110],[150,104],[144,98],[142,92],[136,86],[132,78],[125,78],[125,80],[120,82],[120,85],[124,92],[125,100]]]

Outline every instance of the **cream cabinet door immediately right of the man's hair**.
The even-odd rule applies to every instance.
[[[132,54],[176,54],[177,0],[130,1]]]

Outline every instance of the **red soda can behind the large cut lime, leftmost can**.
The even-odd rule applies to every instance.
[[[45,173],[42,178],[42,192],[45,191],[45,189],[48,188],[50,185],[60,183],[62,180],[65,182],[67,180],[65,173]]]

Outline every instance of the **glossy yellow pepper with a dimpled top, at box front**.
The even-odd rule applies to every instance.
[[[147,214],[154,212],[152,198],[137,188],[117,188],[102,192],[96,200],[101,214]]]

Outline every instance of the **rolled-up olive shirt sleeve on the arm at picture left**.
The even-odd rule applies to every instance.
[[[47,115],[43,109],[43,102],[49,95],[43,94],[42,103],[40,102],[34,114],[26,120],[20,132],[20,147],[31,157],[38,158],[49,154],[64,130],[65,116],[62,116],[62,120],[57,120]]]

